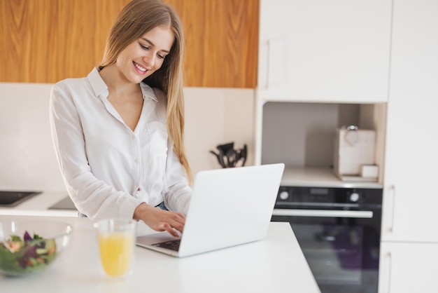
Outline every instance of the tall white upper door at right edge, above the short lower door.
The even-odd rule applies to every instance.
[[[438,242],[437,15],[438,1],[394,3],[383,240]]]

